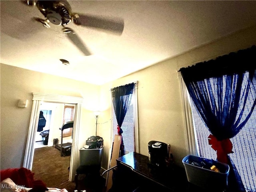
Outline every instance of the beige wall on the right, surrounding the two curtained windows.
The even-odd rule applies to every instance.
[[[148,142],[158,140],[171,145],[175,162],[182,166],[187,155],[185,124],[182,112],[180,78],[177,72],[188,66],[228,54],[256,44],[256,27],[232,34],[226,38],[196,48],[169,60],[160,62],[101,87],[103,103],[111,100],[110,88],[138,81],[139,150],[148,156]],[[110,104],[102,122],[111,118]],[[100,122],[100,121],[99,121]],[[110,136],[109,124],[104,125],[104,135]]]

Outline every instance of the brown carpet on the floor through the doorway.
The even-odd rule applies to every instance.
[[[74,182],[69,182],[70,156],[61,157],[55,147],[35,149],[32,172],[35,180],[42,180],[47,187],[66,188],[73,192]]]

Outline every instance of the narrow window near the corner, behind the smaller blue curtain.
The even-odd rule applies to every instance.
[[[126,116],[122,123],[122,138],[124,141],[124,149],[129,152],[138,152],[138,103],[137,103],[137,83],[134,84],[132,100],[128,106]],[[116,114],[112,103],[112,140],[117,133]]]

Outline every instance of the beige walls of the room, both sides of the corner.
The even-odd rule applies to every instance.
[[[232,34],[102,86],[1,64],[1,169],[22,166],[32,109],[32,92],[84,98],[80,146],[95,134],[92,111],[101,111],[98,135],[104,139],[102,166],[107,168],[108,149],[111,146],[110,88],[134,81],[138,81],[140,153],[148,155],[147,144],[150,140],[166,142],[171,145],[176,163],[183,166],[181,160],[187,150],[177,71],[182,66],[248,48],[256,44],[255,34],[256,27]],[[28,108],[17,108],[18,99],[28,99]]]

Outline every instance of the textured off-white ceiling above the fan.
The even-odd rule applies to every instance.
[[[68,24],[92,55],[45,28],[36,6],[1,0],[1,63],[104,84],[256,24],[256,1],[68,1],[80,14],[122,18],[121,35]],[[59,59],[70,62],[63,65]]]

